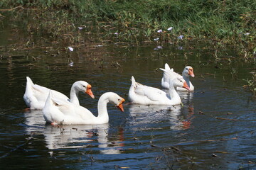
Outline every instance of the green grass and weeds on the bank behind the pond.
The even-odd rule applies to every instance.
[[[242,45],[252,53],[255,48],[256,3],[253,0],[2,0],[0,8],[22,6],[12,12],[34,16],[28,30],[59,38],[77,27],[87,26],[98,40],[115,42],[177,42],[213,40],[219,44]],[[26,10],[25,10],[26,8]],[[36,13],[36,16],[35,16]],[[4,15],[4,13],[3,13]],[[167,31],[169,27],[173,30]],[[156,31],[162,29],[163,33]],[[114,33],[119,35],[114,35]],[[248,34],[250,33],[250,34]]]

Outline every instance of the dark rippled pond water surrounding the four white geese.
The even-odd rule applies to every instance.
[[[219,50],[223,60],[216,62],[215,50],[182,42],[162,49],[87,45],[70,52],[46,44],[21,50],[6,31],[0,31],[0,169],[256,168],[256,105],[242,88],[254,66],[224,61],[235,51]],[[196,89],[179,93],[183,106],[129,104],[131,77],[161,88],[158,68],[165,63],[179,73],[187,64],[194,69]],[[85,80],[95,99],[80,94],[81,106],[97,115],[97,99],[113,91],[126,100],[124,113],[110,104],[105,125],[53,127],[42,111],[26,110],[26,76],[67,96],[73,82]]]

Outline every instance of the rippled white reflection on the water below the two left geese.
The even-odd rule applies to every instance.
[[[43,134],[48,149],[67,148],[100,148],[102,154],[120,154],[124,147],[122,128],[118,132],[118,140],[108,139],[109,124],[101,125],[60,125],[46,124],[42,111],[28,111],[26,118],[26,132],[29,134]],[[52,153],[52,152],[50,152]]]

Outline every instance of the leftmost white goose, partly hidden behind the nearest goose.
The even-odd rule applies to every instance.
[[[26,91],[23,96],[26,105],[31,109],[43,109],[50,89],[33,84],[33,81],[29,77],[26,77],[26,80]],[[58,91],[53,90],[53,94],[56,98],[59,98],[59,100],[70,101],[75,105],[80,105],[78,100],[79,91],[84,91],[92,98],[95,98],[92,94],[92,86],[85,81],[75,81],[70,90],[70,99]]]

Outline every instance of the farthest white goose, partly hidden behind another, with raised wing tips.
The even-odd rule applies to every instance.
[[[174,69],[171,69],[167,63],[164,65],[164,69],[161,69],[161,70],[164,71],[163,78],[161,79],[161,86],[164,89],[169,89],[169,79],[174,79],[175,77],[181,77],[181,75],[174,72]],[[167,74],[167,72],[169,74]],[[169,77],[169,75],[171,75],[171,78]],[[195,74],[193,74],[193,68],[191,66],[186,66],[183,69],[182,77],[186,81],[186,83],[188,84],[190,91],[193,91],[194,86],[191,83],[191,81],[189,81],[189,76],[195,77]],[[177,91],[188,91],[188,90],[184,89],[184,88],[181,88],[181,87],[177,87]]]

